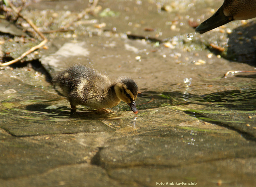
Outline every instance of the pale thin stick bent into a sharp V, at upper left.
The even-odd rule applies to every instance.
[[[8,0],[7,0],[7,1],[8,1]],[[41,38],[43,38],[44,40],[43,40],[41,43],[39,43],[38,45],[32,47],[31,49],[29,49],[28,51],[26,51],[25,53],[23,53],[20,57],[14,59],[14,60],[12,60],[12,61],[9,61],[9,62],[6,62],[6,63],[2,63],[2,64],[0,64],[0,66],[8,66],[8,65],[11,65],[11,64],[14,64],[14,63],[20,61],[21,59],[23,59],[24,57],[26,57],[26,55],[28,55],[28,54],[32,53],[33,51],[35,51],[36,49],[39,49],[40,47],[44,46],[44,45],[47,43],[47,41],[48,41],[48,39],[44,36],[44,34],[38,30],[38,28],[36,27],[36,25],[34,25],[34,23],[33,23],[31,20],[29,20],[28,18],[26,18],[25,16],[23,16],[23,15],[20,13],[20,11],[19,11],[18,9],[16,9],[16,7],[15,7],[11,2],[8,1],[8,3],[9,3],[9,5],[10,5],[10,7],[15,11],[15,13],[18,14],[18,16],[20,16],[20,17],[23,18],[24,20],[26,20],[26,22],[28,22],[28,24],[30,24],[30,26],[31,26],[31,27],[39,34],[39,36],[41,36]]]

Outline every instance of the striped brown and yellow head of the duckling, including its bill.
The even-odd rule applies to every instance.
[[[138,109],[135,104],[135,100],[138,95],[138,85],[136,82],[127,77],[120,77],[115,86],[115,93],[121,101],[127,103],[133,113],[137,114]]]

